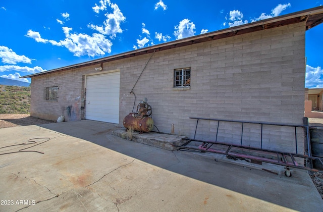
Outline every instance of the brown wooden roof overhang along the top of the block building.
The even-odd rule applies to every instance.
[[[44,75],[44,74],[49,74],[52,72],[57,72],[57,71],[64,71],[64,70],[70,70],[70,69],[76,69],[84,66],[92,66],[92,65],[97,65],[101,63],[106,63],[110,61],[116,61],[116,60],[121,60],[125,58],[131,58],[139,55],[145,55],[149,54],[155,51],[162,51],[166,49],[171,49],[171,48],[177,48],[181,46],[186,46],[186,45],[192,45],[195,43],[201,43],[201,42],[206,42],[210,40],[217,40],[221,38],[226,38],[226,37],[232,37],[235,35],[241,35],[241,34],[246,34],[250,32],[255,32],[255,31],[260,31],[264,29],[270,29],[270,28],[275,28],[279,26],[285,26],[289,24],[295,24],[299,22],[306,22],[306,30],[313,28],[314,26],[320,24],[323,22],[323,6],[296,12],[296,13],[291,13],[287,14],[284,16],[278,16],[275,18],[270,18],[270,19],[265,19],[257,22],[252,22],[249,24],[244,24],[240,26],[235,26],[231,27],[228,29],[223,29],[219,31],[214,31],[214,32],[209,32],[201,35],[196,35],[188,38],[183,38],[180,40],[175,40],[175,41],[170,41],[166,43],[161,43],[145,48],[140,48],[132,51],[128,51],[122,54],[117,54],[109,57],[104,57],[101,59],[97,60],[92,60],[84,63],[79,63],[71,66],[66,66],[58,69],[52,69],[49,71],[45,72],[40,72],[36,74],[31,74],[27,76],[23,76],[21,78],[29,78],[29,77],[34,77],[38,75]]]

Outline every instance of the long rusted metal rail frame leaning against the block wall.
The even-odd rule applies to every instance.
[[[307,139],[307,155],[305,154],[299,154],[297,149],[297,128],[304,128],[306,132],[309,131],[308,125],[292,125],[292,124],[280,124],[280,123],[267,123],[267,122],[243,122],[243,121],[234,121],[234,120],[222,120],[222,119],[207,119],[207,118],[196,118],[196,117],[190,117],[190,119],[196,119],[196,127],[194,132],[194,138],[193,139],[186,139],[187,142],[185,142],[183,145],[178,145],[179,149],[190,149],[190,150],[196,150],[200,152],[213,152],[213,153],[220,153],[220,154],[226,154],[231,157],[235,158],[245,158],[249,160],[259,161],[259,162],[265,162],[265,163],[271,163],[281,166],[286,166],[287,170],[289,170],[290,167],[297,168],[297,169],[303,169],[307,171],[314,171],[317,172],[317,169],[313,169],[312,167],[304,167],[301,164],[298,164],[295,158],[303,158],[305,161],[311,160],[318,160],[321,165],[323,165],[323,158],[322,157],[314,157],[310,154],[310,142],[309,142],[309,133],[306,135]],[[207,121],[217,121],[217,131],[215,136],[215,141],[204,141],[204,140],[198,140],[195,139],[196,132],[197,132],[197,126],[199,123],[199,120],[207,120]],[[218,133],[219,133],[219,125],[220,122],[235,122],[235,123],[241,123],[241,141],[240,145],[225,143],[225,142],[219,142],[218,141]],[[255,147],[249,147],[249,146],[243,146],[243,126],[245,123],[248,124],[259,124],[261,125],[261,135],[260,135],[260,148]],[[262,148],[262,129],[263,125],[274,125],[274,126],[286,126],[286,127],[293,127],[295,129],[295,152],[283,152],[283,151],[275,151],[275,150],[269,150]],[[311,126],[313,127],[313,126]],[[197,142],[200,143],[197,145],[190,145],[191,142]],[[248,153],[246,153],[246,151]],[[289,172],[288,172],[289,173]],[[286,172],[285,172],[286,175]],[[288,176],[290,177],[290,176]]]

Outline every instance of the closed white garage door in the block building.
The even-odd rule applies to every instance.
[[[120,71],[86,76],[85,119],[119,124]]]

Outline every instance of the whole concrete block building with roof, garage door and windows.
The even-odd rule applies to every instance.
[[[193,137],[190,117],[302,125],[305,32],[323,22],[323,7],[141,48],[24,76],[33,117],[123,125],[148,98],[161,132]],[[196,138],[212,140],[217,122],[201,121]],[[241,126],[224,123],[219,140],[239,143]],[[243,129],[259,145],[260,127]],[[303,131],[265,126],[263,148],[304,149]],[[299,152],[301,153],[301,151]]]

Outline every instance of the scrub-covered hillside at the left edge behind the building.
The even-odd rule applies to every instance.
[[[30,114],[30,87],[0,85],[0,114]]]

